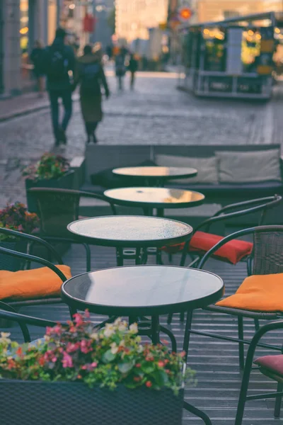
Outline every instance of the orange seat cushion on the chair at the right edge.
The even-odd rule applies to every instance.
[[[255,312],[283,312],[282,291],[283,273],[253,275],[243,281],[234,295],[216,305]]]

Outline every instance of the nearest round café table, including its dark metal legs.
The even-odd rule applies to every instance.
[[[173,351],[176,351],[175,337],[171,331],[160,326],[159,315],[187,312],[183,339],[185,353],[189,342],[192,310],[213,304],[223,293],[224,284],[219,276],[208,271],[178,266],[106,268],[74,276],[62,284],[62,299],[72,312],[76,309],[88,309],[108,316],[149,316],[151,322],[147,322],[148,335],[152,342],[158,344],[159,332],[163,331],[170,337]],[[184,407],[204,419],[205,424],[211,424],[203,412],[187,403]]]

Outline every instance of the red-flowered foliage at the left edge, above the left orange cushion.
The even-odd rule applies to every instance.
[[[31,233],[39,226],[39,218],[33,212],[28,212],[23,203],[16,202],[0,210],[0,227]],[[0,233],[0,241],[11,239],[11,236]]]

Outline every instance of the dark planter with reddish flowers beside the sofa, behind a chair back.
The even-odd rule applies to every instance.
[[[73,188],[74,171],[70,170],[69,161],[62,155],[45,152],[40,160],[23,169],[28,210],[37,212],[37,206],[28,189],[43,188]]]

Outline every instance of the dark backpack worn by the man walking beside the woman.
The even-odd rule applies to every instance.
[[[50,47],[47,77],[50,81],[64,81],[68,75],[68,58],[64,54],[64,49]]]

